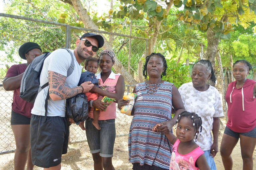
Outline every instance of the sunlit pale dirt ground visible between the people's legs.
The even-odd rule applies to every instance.
[[[220,130],[219,147],[224,130]],[[128,162],[128,136],[118,137],[114,146],[113,165],[117,170],[132,169],[132,165]],[[87,142],[70,145],[70,153],[62,158],[62,170],[93,170],[93,159],[89,151]],[[237,143],[233,152],[233,170],[242,170],[243,162],[241,158],[240,142]],[[0,155],[0,169],[13,170],[14,153]],[[253,164],[256,170],[256,149],[253,154]],[[215,163],[218,170],[224,170],[220,153],[215,157]],[[34,170],[42,170],[43,168],[35,167]]]

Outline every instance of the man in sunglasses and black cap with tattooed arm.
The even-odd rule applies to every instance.
[[[86,33],[76,41],[74,50],[57,49],[44,60],[40,86],[47,82],[49,86],[38,93],[31,111],[31,157],[34,165],[45,170],[61,169],[61,155],[67,153],[69,137],[66,99],[89,92],[93,87],[90,81],[77,86],[82,72],[80,63],[93,56],[103,44],[102,36]],[[47,93],[50,97],[44,119]]]

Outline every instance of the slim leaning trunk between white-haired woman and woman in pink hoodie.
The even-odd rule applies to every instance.
[[[217,61],[218,61],[218,64],[220,66],[221,86],[222,86],[222,106],[223,106],[223,112],[224,112],[225,120],[227,122],[228,121],[227,105],[226,105],[226,100],[225,100],[226,86],[225,86],[224,72],[223,72],[223,67],[222,67],[222,62],[221,62],[221,57],[220,57],[219,50],[217,50]]]

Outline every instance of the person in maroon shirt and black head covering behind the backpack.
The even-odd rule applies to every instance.
[[[6,91],[13,91],[13,103],[11,112],[11,128],[16,142],[14,156],[14,169],[32,170],[34,165],[31,161],[30,152],[30,118],[33,104],[20,98],[20,84],[27,66],[42,54],[40,46],[35,42],[25,42],[19,47],[19,55],[27,60],[25,64],[11,66],[3,80]]]

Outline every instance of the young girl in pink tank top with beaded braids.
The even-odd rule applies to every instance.
[[[163,124],[156,124],[153,131]],[[195,143],[194,137],[202,131],[202,121],[195,113],[182,112],[176,120],[176,135],[171,132],[165,133],[166,137],[173,144],[170,160],[170,170],[210,170],[204,156],[204,151]]]

